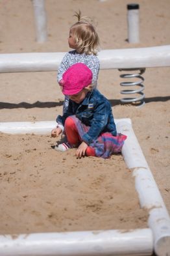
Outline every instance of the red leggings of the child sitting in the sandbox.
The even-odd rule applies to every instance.
[[[65,122],[67,140],[71,145],[79,145],[82,141],[77,130],[76,124],[71,117],[67,117]],[[86,156],[95,156],[95,150],[90,146],[86,149]]]

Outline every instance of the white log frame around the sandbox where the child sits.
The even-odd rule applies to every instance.
[[[143,156],[130,119],[115,119],[117,132],[127,135],[122,154],[133,170],[140,205],[149,210],[149,229],[0,235],[1,256],[18,255],[170,255],[170,218]],[[47,134],[55,121],[1,122],[7,134]]]

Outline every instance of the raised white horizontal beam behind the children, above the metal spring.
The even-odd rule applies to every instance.
[[[0,72],[56,71],[64,55],[64,52],[3,53],[0,54]],[[170,66],[170,45],[103,50],[98,57],[101,69]]]

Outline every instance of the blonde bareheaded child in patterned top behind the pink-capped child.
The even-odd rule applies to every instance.
[[[67,68],[75,63],[86,64],[93,73],[93,87],[97,86],[97,78],[99,74],[99,59],[97,58],[97,50],[99,48],[99,37],[95,31],[95,27],[91,24],[90,19],[80,16],[80,12],[76,13],[77,23],[73,24],[69,30],[68,44],[69,47],[75,49],[66,53],[62,59],[62,63],[58,68],[57,80],[59,85],[63,86],[62,75]],[[67,111],[69,98],[66,95],[63,106],[63,113]]]

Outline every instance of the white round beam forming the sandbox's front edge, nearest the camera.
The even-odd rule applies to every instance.
[[[151,229],[0,235],[1,256],[151,255]]]

